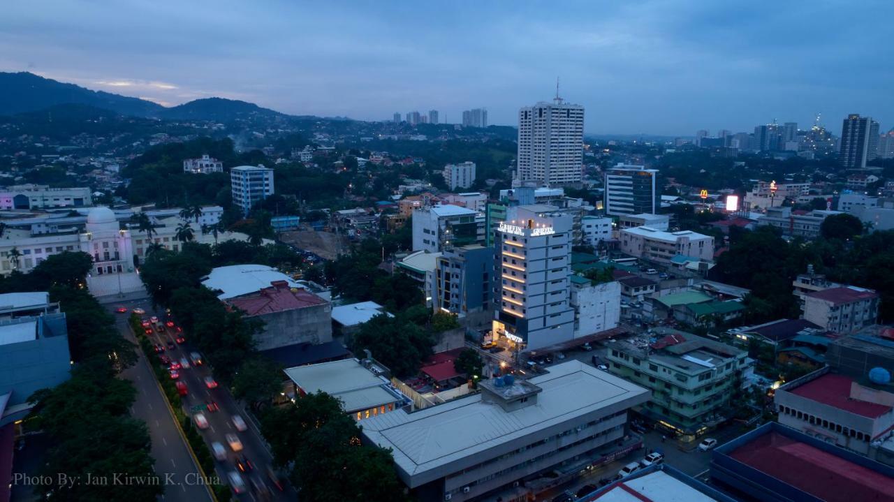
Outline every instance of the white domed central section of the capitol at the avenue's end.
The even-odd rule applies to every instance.
[[[131,230],[122,230],[114,211],[94,207],[79,236],[80,250],[93,256],[92,274],[134,272]]]

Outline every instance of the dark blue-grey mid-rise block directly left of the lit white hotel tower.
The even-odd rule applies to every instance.
[[[493,309],[493,249],[480,244],[453,247],[437,259],[434,310],[490,316]]]

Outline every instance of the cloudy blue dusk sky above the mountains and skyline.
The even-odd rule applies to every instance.
[[[390,120],[560,93],[590,134],[894,127],[894,2],[4,0],[0,71],[162,105]]]

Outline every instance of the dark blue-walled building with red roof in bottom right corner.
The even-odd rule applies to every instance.
[[[775,422],[714,448],[711,480],[742,500],[894,501],[894,469]]]

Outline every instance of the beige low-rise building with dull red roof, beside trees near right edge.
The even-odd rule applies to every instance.
[[[879,294],[872,289],[847,286],[808,293],[804,318],[838,333],[850,333],[873,325],[879,315]]]

